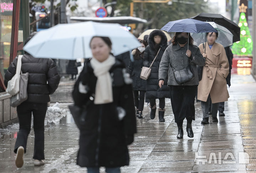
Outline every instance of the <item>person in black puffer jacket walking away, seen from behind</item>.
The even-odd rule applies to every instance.
[[[33,32],[25,41],[25,44],[36,34]],[[24,44],[24,45],[25,45]],[[22,57],[22,73],[29,73],[27,93],[28,98],[17,106],[17,114],[20,130],[17,134],[14,152],[16,155],[16,166],[22,167],[23,154],[26,152],[27,138],[31,129],[31,114],[33,113],[33,129],[35,132],[34,165],[41,166],[45,163],[44,155],[44,126],[47,111],[47,103],[50,94],[58,88],[61,79],[57,68],[51,59],[34,58],[25,52]],[[17,57],[11,63],[5,73],[5,85],[16,73]]]

